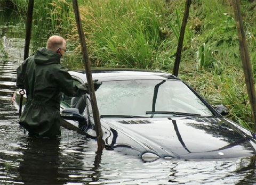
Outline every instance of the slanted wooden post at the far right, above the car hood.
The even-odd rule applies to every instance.
[[[250,61],[250,55],[247,48],[247,41],[245,38],[245,33],[243,29],[243,20],[241,16],[239,0],[233,0],[234,12],[235,12],[235,20],[237,26],[238,40],[239,40],[239,49],[243,64],[245,83],[247,88],[247,93],[249,95],[249,100],[252,108],[252,116],[254,121],[254,131],[256,131],[256,119],[255,119],[255,111],[256,111],[256,100],[255,100],[255,89],[254,89],[254,81],[252,75],[252,65]]]

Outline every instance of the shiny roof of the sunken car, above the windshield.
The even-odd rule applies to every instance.
[[[92,78],[99,81],[113,80],[167,80],[178,79],[174,75],[154,70],[141,69],[92,69]],[[86,81],[85,71],[69,71],[76,78]]]

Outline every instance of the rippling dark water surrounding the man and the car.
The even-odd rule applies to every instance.
[[[28,138],[12,103],[24,40],[4,37],[2,43],[8,57],[0,60],[0,184],[256,183],[254,157],[144,163],[115,151],[97,155],[97,142],[63,128],[59,140]]]

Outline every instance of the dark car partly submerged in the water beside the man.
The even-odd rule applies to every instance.
[[[84,72],[69,72],[86,83]],[[193,88],[161,71],[92,70],[105,148],[145,161],[217,159],[256,154],[255,133],[221,115]],[[16,97],[16,98],[15,98]],[[14,99],[17,99],[17,94]],[[62,95],[61,115],[95,138],[90,96]]]

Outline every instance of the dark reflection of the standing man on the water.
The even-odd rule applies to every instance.
[[[30,139],[22,148],[19,174],[25,184],[63,184],[57,179],[59,164],[59,140]]]

